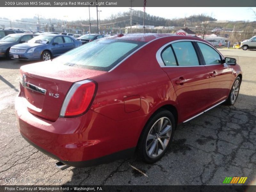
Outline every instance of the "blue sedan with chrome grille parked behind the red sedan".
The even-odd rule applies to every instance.
[[[11,47],[9,56],[17,60],[51,60],[71,49],[82,45],[73,37],[55,34],[43,34]]]

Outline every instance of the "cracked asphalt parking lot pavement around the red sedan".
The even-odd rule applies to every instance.
[[[256,51],[220,52],[235,57],[243,71],[234,106],[220,105],[180,124],[171,148],[155,164],[144,164],[134,156],[64,171],[55,166],[56,160],[29,145],[16,125],[19,68],[31,62],[0,59],[0,185],[221,185],[226,177],[248,177],[246,184],[256,184]],[[31,183],[36,179],[41,180]],[[58,179],[61,183],[55,182]]]

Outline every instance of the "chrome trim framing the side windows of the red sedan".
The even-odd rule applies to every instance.
[[[209,45],[210,47],[212,47],[214,50],[216,50],[220,54],[222,59],[224,59],[222,54],[219,52],[219,50],[217,50],[211,44],[208,44],[208,43],[206,43],[204,41],[195,40],[195,39],[179,39],[179,40],[171,41],[171,42],[169,42],[167,44],[164,44],[160,49],[158,49],[158,51],[156,52],[156,60],[157,60],[158,64],[160,65],[160,67],[164,67],[164,68],[168,67],[169,68],[169,67],[201,67],[201,66],[211,66],[211,65],[200,65],[200,63],[199,63],[199,65],[195,65],[195,66],[166,66],[166,65],[164,65],[164,61],[162,60],[162,57],[161,57],[161,52],[164,50],[164,48],[167,47],[168,45],[173,44],[173,43],[184,42],[184,41],[199,42],[199,43],[204,43],[206,45]],[[196,50],[195,50],[195,52],[196,52]],[[212,64],[212,65],[222,65],[222,64],[218,63],[218,64]]]

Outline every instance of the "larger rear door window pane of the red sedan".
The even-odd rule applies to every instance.
[[[192,42],[182,41],[172,44],[179,66],[198,66],[199,61]]]

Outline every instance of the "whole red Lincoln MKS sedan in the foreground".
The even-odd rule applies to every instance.
[[[58,165],[159,160],[177,124],[236,102],[242,72],[207,41],[119,34],[20,68],[21,135]]]

